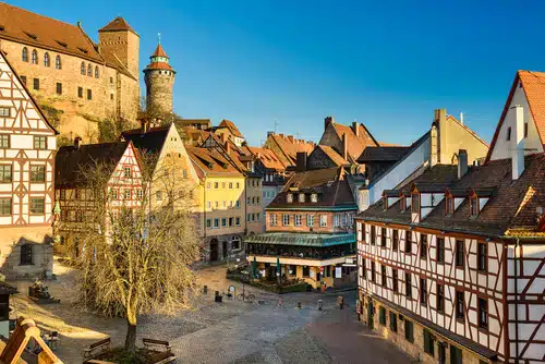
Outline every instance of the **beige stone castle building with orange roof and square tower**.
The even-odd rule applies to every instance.
[[[62,135],[94,141],[98,121],[136,120],[140,37],[116,17],[98,44],[71,25],[0,3],[0,49]]]

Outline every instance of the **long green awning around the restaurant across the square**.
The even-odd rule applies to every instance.
[[[296,232],[266,232],[264,234],[250,235],[244,239],[251,244],[277,244],[298,246],[332,246],[355,243],[353,233],[296,233]]]

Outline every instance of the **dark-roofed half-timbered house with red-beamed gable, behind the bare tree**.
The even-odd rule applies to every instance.
[[[56,160],[56,199],[60,223],[57,251],[77,256],[82,252],[81,234],[90,219],[104,215],[106,229],[109,221],[119,217],[126,208],[141,206],[144,194],[138,150],[132,142],[114,142],[81,145],[76,138],[73,146],[59,148]],[[107,171],[104,185],[89,180],[89,171]],[[106,198],[96,197],[104,189]],[[97,199],[96,199],[97,198]],[[98,210],[98,214],[97,214]],[[101,222],[101,217],[98,216]]]

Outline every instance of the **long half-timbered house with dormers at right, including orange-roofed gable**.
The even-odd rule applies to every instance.
[[[356,217],[360,317],[421,362],[545,362],[544,81],[517,74],[484,166],[460,150]]]

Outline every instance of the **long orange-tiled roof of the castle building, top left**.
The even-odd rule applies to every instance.
[[[0,2],[0,39],[102,62],[93,40],[77,25]]]

